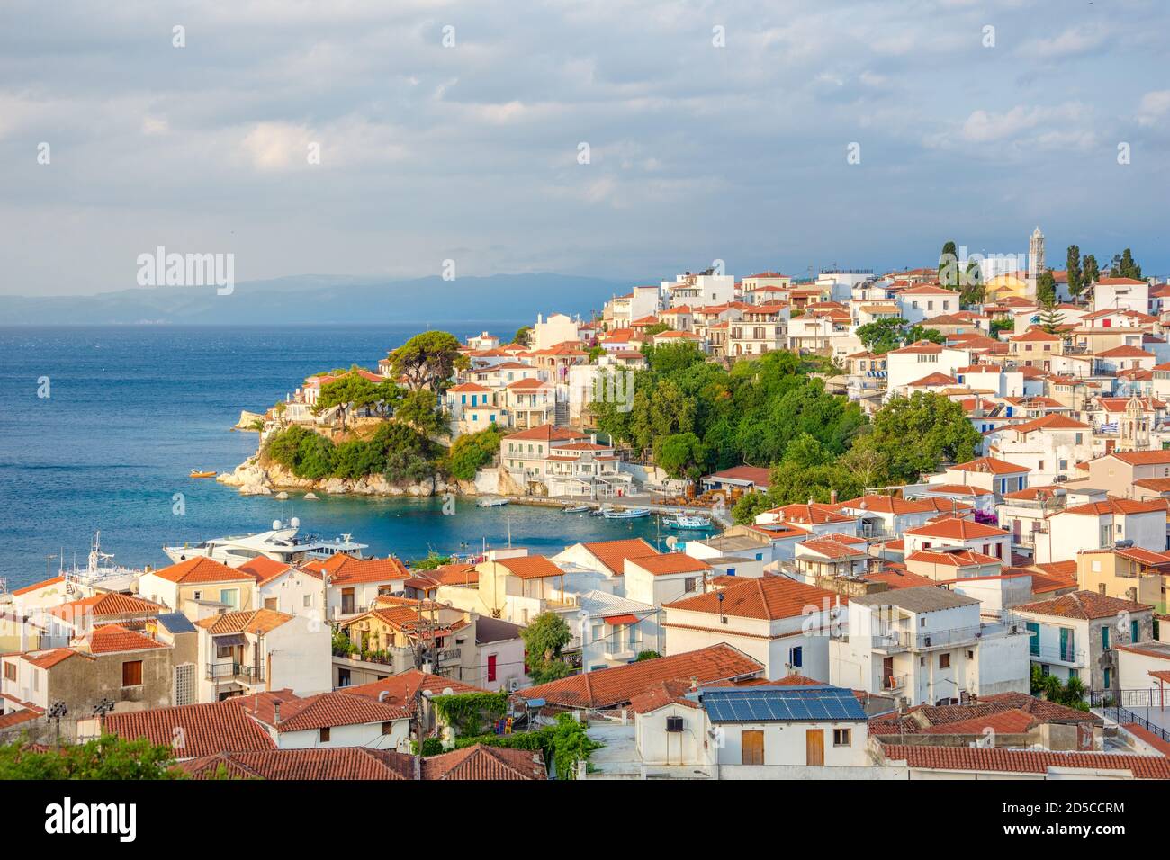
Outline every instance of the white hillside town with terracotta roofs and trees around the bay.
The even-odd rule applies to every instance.
[[[192,778],[1170,778],[1170,284],[1044,242],[714,267],[310,376],[241,419],[246,491],[674,534],[407,560],[277,521],[142,571],[95,542],[5,596],[0,737]]]

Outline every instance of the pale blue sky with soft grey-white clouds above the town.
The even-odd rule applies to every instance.
[[[8,0],[0,294],[131,288],[159,246],[236,281],[633,284],[1024,254],[1038,225],[1057,268],[1130,247],[1163,275],[1168,23],[1164,0]]]

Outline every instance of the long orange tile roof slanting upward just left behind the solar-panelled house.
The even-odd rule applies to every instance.
[[[763,665],[750,656],[720,642],[698,651],[642,660],[615,666],[605,672],[587,672],[563,677],[536,687],[522,689],[522,699],[543,699],[549,704],[564,708],[614,708],[628,703],[634,696],[663,681],[681,680],[689,683],[729,681],[742,675],[755,675]]]

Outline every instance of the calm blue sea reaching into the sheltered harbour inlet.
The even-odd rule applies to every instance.
[[[501,336],[510,336],[515,323]],[[464,338],[483,326],[449,324]],[[64,553],[84,563],[90,539],[117,562],[167,563],[164,544],[262,531],[300,516],[310,534],[343,531],[378,555],[405,559],[503,545],[548,552],[579,539],[641,535],[653,521],[615,522],[557,510],[461,502],[443,516],[431,500],[240,496],[192,468],[229,470],[255,452],[254,433],[229,428],[240,410],[263,411],[304,377],[374,366],[414,325],[284,328],[0,328],[0,577],[9,587],[43,578]],[[37,397],[48,377],[49,397]],[[172,512],[185,495],[186,512]]]

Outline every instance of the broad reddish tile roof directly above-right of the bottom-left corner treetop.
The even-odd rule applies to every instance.
[[[105,717],[105,728],[129,739],[174,747],[178,758],[275,747],[268,731],[230,701],[113,713]]]

